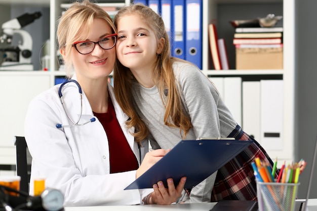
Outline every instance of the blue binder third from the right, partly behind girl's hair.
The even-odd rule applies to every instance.
[[[161,0],[161,17],[164,21],[165,30],[169,36],[170,44],[173,43],[172,29],[172,0]]]

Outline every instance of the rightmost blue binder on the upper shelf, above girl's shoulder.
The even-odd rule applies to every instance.
[[[202,69],[203,48],[203,2],[185,0],[186,13],[186,60]]]

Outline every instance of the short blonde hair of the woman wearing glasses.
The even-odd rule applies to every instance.
[[[64,65],[68,77],[72,71],[72,45],[75,41],[88,38],[93,20],[96,18],[104,19],[111,27],[112,33],[116,32],[111,17],[102,8],[89,0],[73,3],[59,19],[57,40],[59,50],[63,49],[65,51]]]

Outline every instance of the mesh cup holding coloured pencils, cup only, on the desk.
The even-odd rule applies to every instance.
[[[259,211],[294,211],[300,183],[265,183],[257,181]]]

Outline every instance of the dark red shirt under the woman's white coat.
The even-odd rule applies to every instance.
[[[101,122],[107,137],[110,153],[110,174],[137,170],[138,160],[116,119],[114,107],[109,98],[107,113],[95,113]]]

